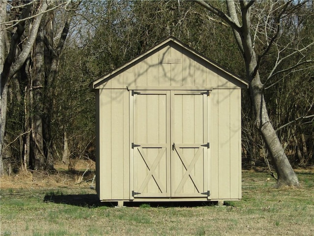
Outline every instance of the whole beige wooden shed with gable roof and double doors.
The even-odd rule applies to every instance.
[[[170,37],[92,82],[101,201],[241,199],[241,89]]]

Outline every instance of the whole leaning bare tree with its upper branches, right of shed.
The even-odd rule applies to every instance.
[[[281,13],[279,13],[277,17],[277,25],[278,31],[270,37],[269,41],[265,42],[265,51],[262,55],[260,55],[259,61],[258,57],[255,53],[255,45],[252,40],[251,33],[251,8],[254,4],[254,1],[239,1],[239,4],[235,4],[235,1],[228,0],[226,1],[228,14],[225,14],[223,11],[215,8],[211,5],[211,3],[207,3],[203,0],[197,0],[197,3],[208,9],[210,12],[218,16],[224,22],[226,22],[234,32],[234,37],[236,44],[243,55],[243,59],[245,61],[245,71],[246,71],[246,79],[249,82],[250,96],[253,102],[255,114],[256,114],[256,125],[262,134],[262,138],[266,144],[266,147],[271,155],[273,165],[276,169],[278,181],[278,186],[281,185],[292,185],[299,186],[299,181],[297,176],[295,175],[289,161],[287,155],[285,154],[284,148],[282,147],[279,138],[270,123],[266,104],[264,100],[264,86],[261,82],[259,75],[259,67],[260,59],[267,54],[272,46],[272,43],[278,36],[279,25],[281,21],[281,16],[285,15],[285,11],[287,10],[289,2],[283,5]],[[240,10],[240,15],[238,14]],[[266,15],[265,15],[266,16]],[[241,18],[239,20],[239,18]],[[268,21],[268,18],[267,18]],[[267,25],[267,24],[266,24]],[[265,26],[266,26],[265,25]],[[267,31],[266,27],[265,30]],[[273,28],[271,30],[273,32]],[[268,35],[269,36],[269,35]],[[266,36],[266,38],[268,38]],[[268,39],[267,39],[268,40]],[[301,63],[302,64],[302,63]]]

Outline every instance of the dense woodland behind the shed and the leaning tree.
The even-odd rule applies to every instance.
[[[209,3],[227,11],[223,1]],[[272,126],[293,167],[314,165],[314,3],[246,7]],[[235,9],[240,16],[244,8],[235,2]],[[247,78],[222,19],[195,1],[1,0],[1,175],[94,159],[88,85],[169,36]],[[243,90],[242,163],[272,170],[253,106]]]

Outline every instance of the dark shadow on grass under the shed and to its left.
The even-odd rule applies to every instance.
[[[58,195],[49,193],[45,195],[45,202],[66,204],[78,207],[116,207],[117,202],[101,202],[97,194],[70,194]],[[124,202],[125,207],[207,207],[214,206],[215,202]]]

